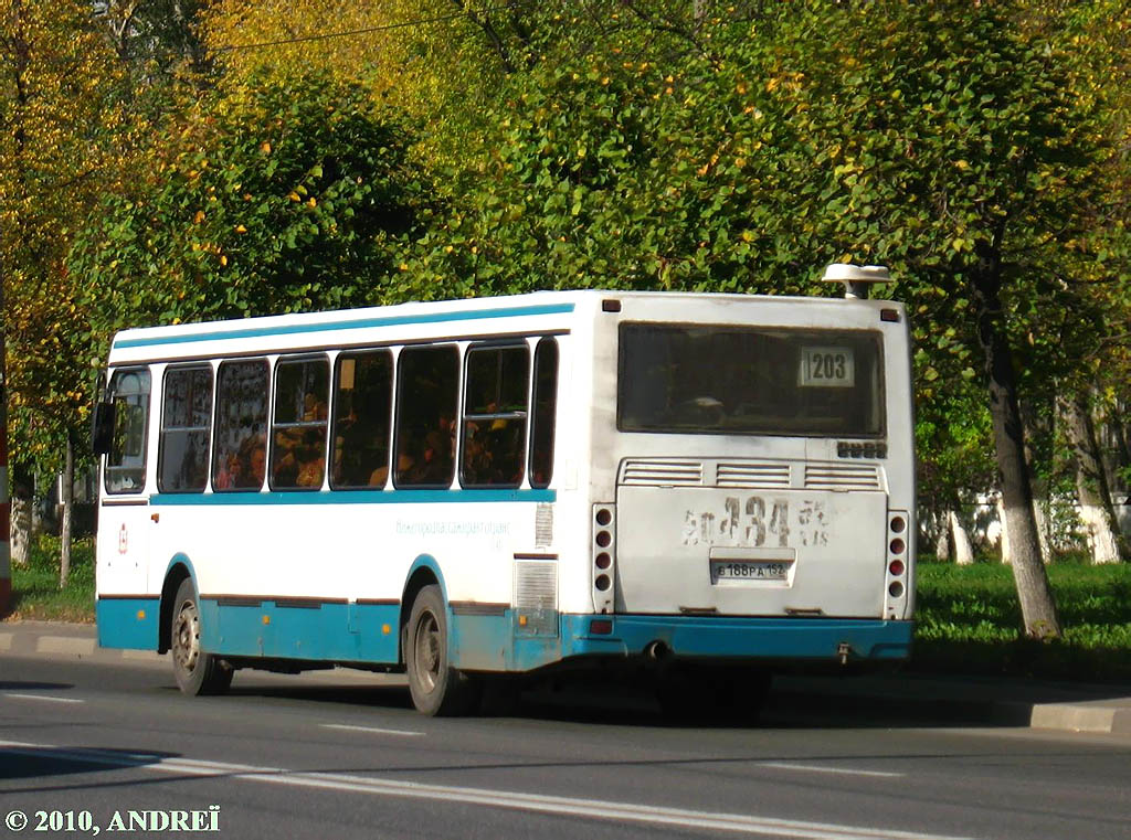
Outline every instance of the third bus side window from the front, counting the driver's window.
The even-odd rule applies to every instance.
[[[213,488],[262,490],[267,466],[267,360],[224,362],[216,383]]]

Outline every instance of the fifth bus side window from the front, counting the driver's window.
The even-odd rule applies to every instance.
[[[389,478],[392,415],[392,354],[389,350],[338,356],[334,397],[335,490],[380,488]]]

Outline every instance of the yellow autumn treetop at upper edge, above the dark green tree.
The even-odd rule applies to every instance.
[[[454,162],[502,79],[528,63],[532,31],[553,6],[567,5],[219,0],[202,33],[224,72],[221,84],[308,69],[360,84],[375,101],[430,123],[418,156]]]

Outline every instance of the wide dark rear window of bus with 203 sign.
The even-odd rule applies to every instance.
[[[883,434],[880,335],[864,330],[622,323],[624,432]]]

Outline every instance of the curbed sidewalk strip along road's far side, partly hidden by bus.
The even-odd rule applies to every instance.
[[[93,624],[0,623],[0,663],[7,657],[169,666],[167,655],[98,647]],[[317,672],[326,678],[373,675],[351,669]],[[383,682],[383,681],[382,681]],[[867,676],[779,676],[774,713],[835,719],[851,712],[878,724],[944,721],[1131,736],[1131,685],[1041,683],[899,672]]]

